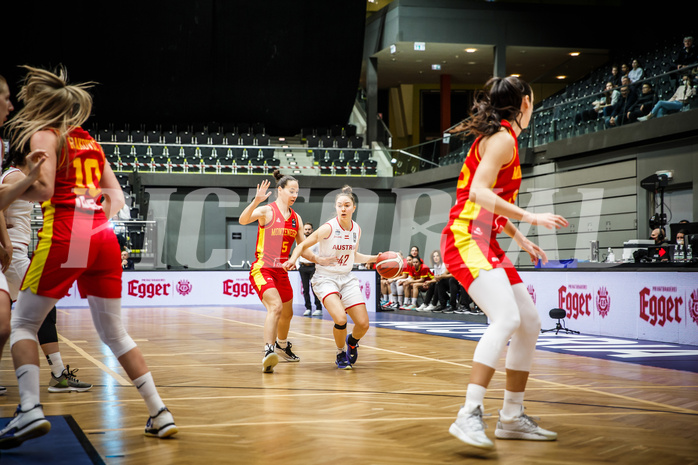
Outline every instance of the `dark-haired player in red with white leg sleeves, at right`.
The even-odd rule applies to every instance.
[[[523,413],[523,397],[540,333],[540,319],[513,264],[496,240],[505,232],[531,257],[547,261],[545,252],[510,221],[548,229],[568,225],[552,213],[532,214],[514,204],[521,185],[517,137],[533,112],[531,87],[517,77],[493,78],[465,122],[477,137],[463,163],[456,204],[442,234],[441,252],[448,271],[488,316],[490,325],[473,355],[465,406],[449,432],[476,447],[490,449],[482,421],[483,401],[499,356],[506,356],[504,405],[495,430],[498,439],[552,441],[557,433],[539,427]]]

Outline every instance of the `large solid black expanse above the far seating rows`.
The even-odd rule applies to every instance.
[[[345,123],[354,103],[361,1],[21,3],[0,73],[14,94],[22,64],[61,64],[75,82],[98,82],[92,122],[262,122],[270,134],[295,134]]]

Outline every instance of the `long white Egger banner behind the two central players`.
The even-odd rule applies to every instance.
[[[353,271],[369,312],[376,311],[375,271]],[[293,304],[305,305],[298,272],[290,272]],[[248,271],[125,271],[121,304],[124,307],[180,307],[194,305],[262,305],[250,284]],[[77,283],[58,307],[87,307]]]

